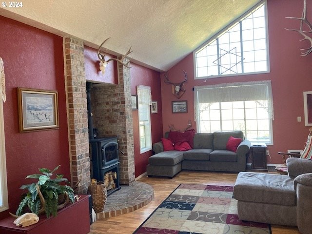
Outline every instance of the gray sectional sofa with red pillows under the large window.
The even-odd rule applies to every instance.
[[[229,137],[241,138],[237,152],[226,150]],[[168,138],[168,133],[165,134]],[[246,170],[250,141],[243,132],[195,133],[194,147],[188,151],[164,151],[162,142],[153,144],[155,155],[149,157],[148,176],[173,177],[181,170],[241,172]]]

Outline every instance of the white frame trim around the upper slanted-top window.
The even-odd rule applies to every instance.
[[[218,37],[221,37],[226,31],[230,30],[232,27],[236,25],[236,23],[242,21],[243,18],[247,17],[252,11],[260,7],[260,5],[264,4],[264,10],[265,10],[265,27],[266,27],[266,43],[267,43],[267,66],[268,70],[267,71],[261,71],[261,72],[248,72],[248,73],[239,73],[239,74],[226,74],[226,75],[212,75],[212,76],[205,76],[205,77],[197,77],[196,76],[196,68],[197,68],[197,63],[196,63],[196,53],[201,50],[204,46],[208,45],[211,43],[213,40],[216,40]],[[214,36],[206,40],[204,43],[202,43],[200,46],[198,46],[194,51],[193,51],[193,68],[194,68],[194,79],[211,79],[211,78],[220,78],[220,77],[235,77],[235,76],[244,76],[244,75],[256,75],[256,74],[265,74],[265,73],[270,73],[270,46],[269,46],[269,23],[268,23],[268,2],[267,0],[262,0],[258,2],[258,4],[254,5],[254,7],[250,8],[247,12],[233,20],[230,24],[225,26],[223,29],[218,31]],[[241,31],[240,31],[241,33]]]

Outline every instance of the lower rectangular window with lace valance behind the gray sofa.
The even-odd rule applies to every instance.
[[[197,131],[241,130],[253,143],[273,144],[270,81],[195,87]]]

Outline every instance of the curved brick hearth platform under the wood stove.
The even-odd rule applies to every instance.
[[[121,185],[121,189],[109,195],[104,211],[97,214],[98,218],[109,218],[135,211],[147,205],[154,198],[152,186],[139,181],[131,185]]]

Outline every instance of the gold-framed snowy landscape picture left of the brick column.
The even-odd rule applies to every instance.
[[[18,88],[20,132],[59,128],[58,91]]]

